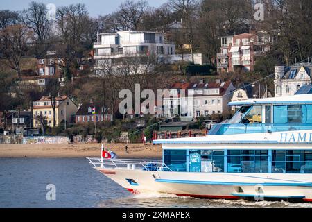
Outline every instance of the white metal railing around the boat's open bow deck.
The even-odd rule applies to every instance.
[[[87,158],[93,167],[103,169],[142,169],[144,171],[172,171],[162,160],[132,160],[132,159],[103,159]]]

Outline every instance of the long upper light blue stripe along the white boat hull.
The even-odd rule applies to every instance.
[[[192,181],[192,180],[166,180],[155,179],[156,182],[181,183],[189,185],[225,185],[225,186],[283,186],[283,187],[312,187],[312,183],[281,183],[281,182],[216,182],[216,181]]]

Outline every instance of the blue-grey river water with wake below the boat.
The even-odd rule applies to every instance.
[[[132,195],[92,169],[85,158],[0,158],[0,207],[312,208],[312,204],[208,200],[157,193]]]

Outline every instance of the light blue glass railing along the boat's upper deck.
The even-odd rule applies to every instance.
[[[312,130],[312,123],[253,123],[253,124],[216,124],[209,135],[233,135],[243,133],[270,133],[295,130]]]

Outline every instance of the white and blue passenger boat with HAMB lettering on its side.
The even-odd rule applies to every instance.
[[[205,137],[156,140],[162,160],[89,158],[132,193],[312,201],[312,95],[232,102]]]

